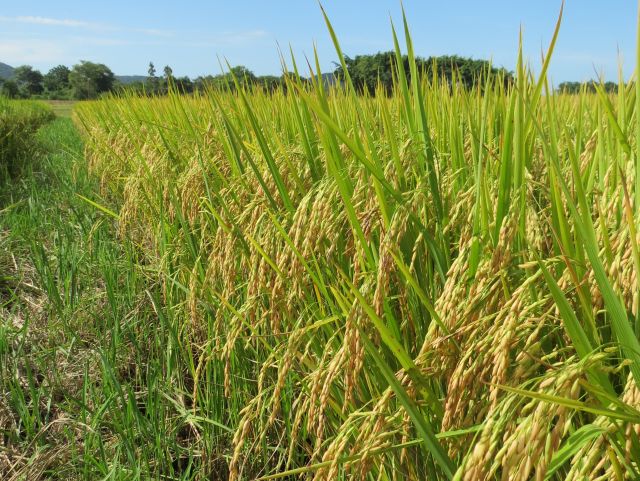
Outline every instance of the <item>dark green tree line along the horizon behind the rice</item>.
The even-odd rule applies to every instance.
[[[346,57],[345,64],[349,76],[359,92],[368,91],[371,94],[382,91],[390,93],[393,90],[396,69],[394,52],[379,52],[373,55],[357,55]],[[402,57],[403,69],[410,77],[409,59]],[[449,85],[454,83],[465,88],[481,84],[491,76],[498,78],[505,84],[513,81],[513,73],[496,68],[486,60],[477,60],[459,56],[440,56],[416,59],[418,70],[427,76],[437,76]],[[323,76],[323,81],[331,85],[343,82],[345,72],[340,65],[329,76]],[[309,79],[307,79],[309,80]],[[219,89],[235,89],[236,82],[240,85],[251,85],[273,91],[277,88],[286,89],[284,76],[255,75],[244,66],[232,67],[228,72],[220,75],[207,75],[191,79],[187,76],[176,77],[173,69],[166,65],[159,73],[153,62],[149,63],[147,76],[133,82],[123,83],[109,67],[101,63],[81,61],[69,68],[58,65],[46,74],[34,69],[30,65],[23,65],[14,69],[11,79],[0,79],[0,95],[12,98],[42,98],[42,99],[93,99],[106,92],[126,90],[139,95],[165,95],[171,88],[182,93],[193,93],[203,90],[207,86]],[[606,91],[617,89],[617,84],[607,82],[603,84]],[[593,82],[563,82],[558,91],[576,93],[582,88],[595,90]]]

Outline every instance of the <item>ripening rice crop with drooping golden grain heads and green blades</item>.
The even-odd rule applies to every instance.
[[[511,84],[420,75],[405,19],[391,95],[291,59],[77,104],[78,228],[31,254],[67,364],[0,369],[37,475],[640,477],[640,83],[555,92],[559,28]]]

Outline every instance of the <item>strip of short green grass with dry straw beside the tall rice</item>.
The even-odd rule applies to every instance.
[[[150,303],[158,288],[138,273],[134,246],[80,197],[94,197],[96,185],[71,121],[55,120],[38,138],[48,153],[11,189],[0,222],[0,473],[189,472],[188,426],[167,401],[180,371],[163,372],[170,333],[158,331]],[[143,458],[162,466],[135,468]]]

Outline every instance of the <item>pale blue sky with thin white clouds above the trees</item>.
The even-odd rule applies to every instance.
[[[23,0],[0,9],[0,61],[46,71],[79,60],[117,74],[144,74],[149,61],[176,75],[218,73],[218,56],[257,74],[278,74],[278,44],[299,61],[317,45],[322,66],[336,60],[316,0]],[[184,5],[184,6],[183,6]],[[399,0],[324,0],[348,55],[389,50],[389,16],[401,22]],[[513,70],[518,31],[539,70],[559,0],[404,0],[416,52],[492,58]],[[618,59],[633,70],[637,5],[630,0],[567,0],[550,74],[554,82],[616,80]]]

